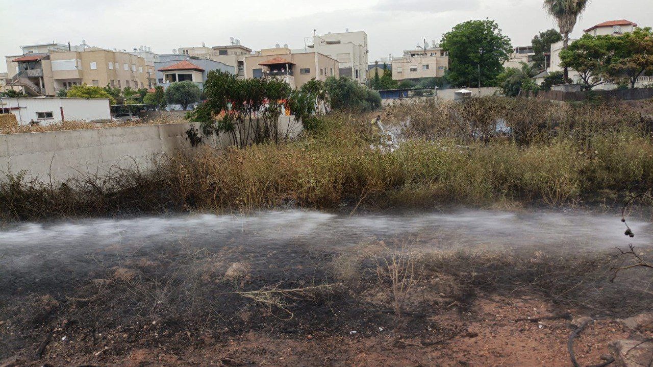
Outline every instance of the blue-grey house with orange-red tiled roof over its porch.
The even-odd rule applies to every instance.
[[[204,82],[208,72],[221,70],[235,74],[235,68],[210,59],[182,59],[159,61],[155,63],[157,69],[157,85],[167,89],[171,83],[189,81],[204,89]]]

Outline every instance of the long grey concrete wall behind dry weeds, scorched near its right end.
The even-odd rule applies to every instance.
[[[25,170],[31,178],[59,183],[87,173],[104,174],[116,166],[148,170],[157,157],[194,152],[186,136],[191,125],[168,123],[0,135],[0,171],[8,168],[15,174]],[[301,124],[292,116],[279,118],[279,133],[295,137],[300,131]],[[232,145],[226,135],[205,137],[204,141],[216,148]]]

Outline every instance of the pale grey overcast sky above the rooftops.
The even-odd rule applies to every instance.
[[[180,46],[218,46],[229,37],[254,50],[287,43],[304,47],[318,34],[366,31],[369,61],[398,56],[426,39],[436,42],[460,22],[490,18],[513,46],[554,27],[543,0],[0,0],[0,54],[42,42],[167,54]],[[653,25],[653,0],[591,0],[573,35],[605,20]],[[0,71],[7,71],[0,63]]]

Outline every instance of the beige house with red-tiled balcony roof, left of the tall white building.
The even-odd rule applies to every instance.
[[[293,54],[290,48],[276,47],[261,50],[244,59],[245,78],[278,76],[292,88],[300,88],[312,78],[326,80],[340,76],[338,60],[319,52]]]

